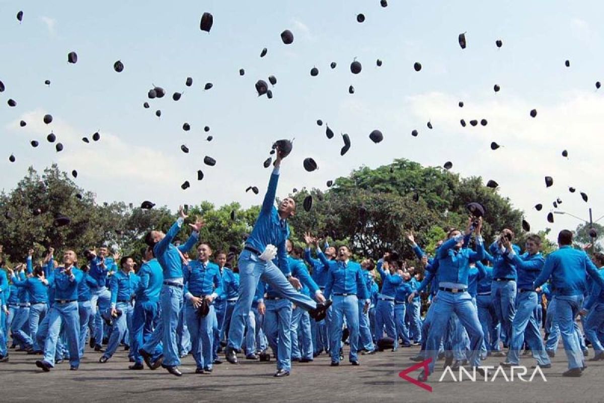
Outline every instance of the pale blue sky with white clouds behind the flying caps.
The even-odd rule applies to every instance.
[[[30,166],[40,172],[57,163],[66,172],[76,169],[74,181],[98,203],[148,199],[175,210],[207,200],[248,207],[262,201],[269,176],[262,163],[271,144],[295,138],[278,195],[294,187],[326,190],[327,180],[358,167],[407,158],[424,166],[451,161],[451,171],[461,176],[494,179],[533,231],[548,227],[555,235],[580,223],[556,214],[549,224],[553,210],[588,219],[592,207],[594,219],[604,215],[604,89],[595,85],[604,82],[603,2],[379,3],[148,0],[141,7],[133,0],[0,0],[0,80],[6,87],[0,93],[0,189],[14,189]],[[214,16],[210,33],[199,29],[204,12]],[[358,13],[365,15],[362,24]],[[291,45],[281,42],[286,29],[294,34]],[[466,33],[464,50],[460,33]],[[70,51],[78,55],[76,64],[67,62]],[[349,67],[355,58],[362,63],[358,75]],[[117,60],[124,64],[121,73],[113,69]],[[316,77],[310,76],[313,67]],[[255,82],[268,82],[270,75],[277,77],[274,97],[258,97]],[[205,91],[207,82],[213,88]],[[495,84],[501,91],[493,91]],[[147,99],[154,85],[165,89],[164,98]],[[177,91],[182,98],[175,102]],[[9,108],[8,98],[17,106]],[[47,113],[54,117],[49,125],[42,121]],[[461,127],[461,118],[488,124]],[[335,137],[327,139],[318,119]],[[21,120],[27,126],[20,127]],[[182,130],[184,122],[190,131]],[[379,144],[368,138],[374,129],[384,133]],[[51,131],[65,147],[60,153],[46,140]],[[100,141],[82,142],[96,131]],[[341,133],[352,141],[344,156]],[[31,140],[40,146],[31,147]],[[492,141],[502,147],[491,150]],[[205,155],[216,166],[205,166]],[[303,169],[307,157],[318,170]],[[545,187],[545,175],[553,177],[552,187]],[[185,180],[191,187],[182,190]],[[250,185],[260,194],[245,193]],[[576,193],[568,192],[571,186]],[[589,196],[587,203],[579,192]],[[563,203],[554,209],[557,198]],[[544,205],[540,212],[537,203]]]

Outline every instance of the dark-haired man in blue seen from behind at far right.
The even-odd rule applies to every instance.
[[[572,244],[573,233],[569,230],[560,231],[559,249],[550,253],[545,259],[545,266],[535,280],[534,287],[541,286],[551,277],[553,300],[556,301],[554,315],[568,357],[568,370],[562,375],[579,377],[586,366],[574,328],[574,318],[583,305],[583,292],[587,287],[586,277],[590,276],[602,288],[604,288],[604,279],[587,254],[573,249]]]

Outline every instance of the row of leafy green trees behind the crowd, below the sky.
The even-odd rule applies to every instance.
[[[306,212],[301,205],[308,195],[313,196],[313,207]],[[385,251],[397,250],[406,259],[414,259],[406,232],[413,231],[417,242],[433,253],[446,230],[466,225],[465,206],[471,201],[481,202],[486,208],[486,242],[495,239],[501,228],[511,228],[517,234],[516,243],[524,245],[522,212],[513,208],[509,199],[484,186],[481,178],[460,178],[408,160],[396,160],[373,170],[362,167],[336,179],[326,192],[302,189],[291,196],[300,206],[291,219],[292,240],[300,245],[304,231],[310,231],[332,243],[346,243],[356,256],[377,258]],[[11,262],[24,259],[29,248],[41,256],[50,246],[82,253],[87,248],[109,245],[139,258],[144,234],[153,229],[166,231],[176,218],[166,207],[142,210],[124,202],[98,205],[93,193],[77,187],[56,165],[41,175],[30,168],[12,192],[0,195],[0,212],[0,243]],[[259,206],[242,208],[233,202],[215,207],[204,201],[190,206],[189,214],[201,216],[206,222],[201,239],[214,250],[226,250],[243,246],[258,213]],[[59,216],[69,216],[71,224],[54,227],[53,221]],[[598,226],[602,234],[600,229]],[[539,234],[545,239],[547,231]],[[187,226],[180,239],[188,237],[189,232]],[[586,233],[585,228],[577,228],[579,243],[590,242]],[[544,251],[553,248],[546,240]]]

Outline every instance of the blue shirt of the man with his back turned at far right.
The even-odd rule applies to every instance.
[[[547,256],[541,274],[535,280],[535,288],[551,277],[554,295],[582,295],[587,287],[587,274],[604,288],[604,280],[587,254],[564,245]]]

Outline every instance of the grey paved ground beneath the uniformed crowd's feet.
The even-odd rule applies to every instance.
[[[211,375],[195,375],[191,356],[183,361],[181,378],[165,370],[127,369],[126,353],[118,352],[108,363],[97,362],[98,353],[88,351],[78,372],[59,364],[50,373],[34,366],[38,356],[10,352],[10,362],[0,364],[0,402],[591,402],[604,401],[604,361],[588,363],[581,378],[562,378],[567,366],[564,350],[558,350],[553,367],[543,370],[547,382],[536,376],[533,382],[515,378],[506,382],[454,382],[439,370],[431,376],[428,392],[399,378],[401,370],[415,364],[408,358],[419,347],[361,356],[361,366],[330,367],[321,355],[313,363],[294,363],[292,375],[277,379],[275,363],[243,360],[233,366],[214,367]],[[593,350],[590,350],[593,356]],[[497,366],[500,358],[488,358],[483,365]],[[528,367],[533,359],[523,357]],[[417,372],[411,373],[415,378]],[[456,374],[457,376],[458,374]],[[507,371],[509,376],[509,370]],[[527,379],[530,376],[525,376]]]

